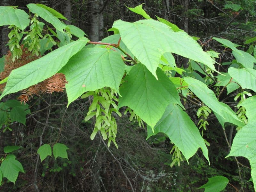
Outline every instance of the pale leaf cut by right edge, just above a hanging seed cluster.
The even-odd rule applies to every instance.
[[[252,89],[256,92],[256,70],[229,68],[228,74],[235,79],[243,89]]]

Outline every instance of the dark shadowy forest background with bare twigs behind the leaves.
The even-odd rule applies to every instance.
[[[81,28],[92,41],[112,35],[113,32],[107,30],[115,20],[133,22],[143,19],[126,6],[144,3],[144,10],[152,18],[159,16],[169,20],[190,36],[200,37],[205,50],[220,52],[221,62],[232,60],[231,53],[223,52],[223,46],[208,40],[212,37],[227,38],[242,45],[256,35],[256,3],[252,0],[2,0],[0,5],[18,5],[28,12],[26,4],[29,3],[45,4],[59,11],[68,18],[66,24]],[[242,9],[225,8],[230,3],[239,4]],[[5,46],[9,40],[8,30],[7,26],[0,28],[0,57],[8,51],[8,46]],[[244,45],[240,49],[247,51],[248,48]],[[186,59],[177,56],[175,59],[179,67],[186,67]],[[224,68],[221,70],[225,71]],[[16,97],[17,94],[11,94],[6,99]],[[242,185],[244,191],[253,191],[252,182],[247,182],[251,177],[249,162],[238,158],[241,164],[237,164],[233,157],[224,159],[229,148],[215,116],[208,119],[210,125],[204,132],[210,143],[211,165],[198,150],[189,160],[189,165],[183,161],[180,166],[171,168],[172,155],[169,152],[172,144],[168,137],[158,134],[145,140],[146,129],[130,122],[127,115],[118,117],[118,149],[114,145],[107,149],[99,136],[91,140],[93,125],[84,122],[89,101],[78,99],[67,108],[65,93],[36,96],[30,100],[28,104],[32,113],[27,118],[27,126],[14,123],[12,132],[0,132],[0,153],[6,145],[23,147],[17,158],[26,174],[20,173],[14,186],[5,183],[0,191],[131,191],[129,181],[135,191],[200,191],[196,188],[216,175],[226,176],[238,189]],[[236,106],[230,95],[226,101],[231,107]],[[197,121],[196,110],[191,108],[189,115],[194,122]],[[231,143],[235,127],[227,126],[226,133]],[[40,164],[36,154],[40,140],[51,143],[57,139],[68,146],[69,160],[47,158]],[[226,191],[235,190],[228,185]]]

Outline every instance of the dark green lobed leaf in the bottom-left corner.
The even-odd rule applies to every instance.
[[[19,172],[25,173],[21,163],[15,158],[5,158],[0,166],[0,171],[3,177],[13,183],[17,180]]]

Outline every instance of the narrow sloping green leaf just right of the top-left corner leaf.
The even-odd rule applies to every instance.
[[[36,13],[39,15],[39,17],[42,17],[45,21],[48,23],[51,23],[53,27],[58,29],[59,31],[63,31],[67,27],[64,23],[62,23],[56,16],[54,16],[51,12],[44,9],[41,6],[38,6],[37,4],[30,3],[27,5],[29,11],[32,13]]]

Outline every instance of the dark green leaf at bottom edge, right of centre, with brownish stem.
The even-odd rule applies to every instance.
[[[198,189],[204,188],[204,192],[219,192],[228,185],[228,178],[223,176],[214,176],[208,178],[208,182]]]

